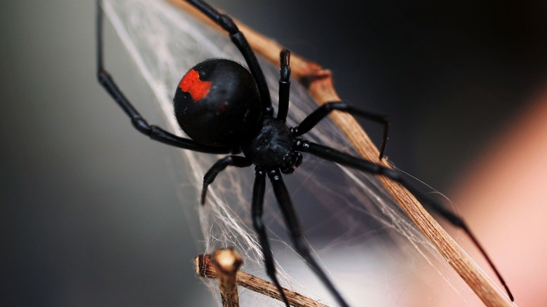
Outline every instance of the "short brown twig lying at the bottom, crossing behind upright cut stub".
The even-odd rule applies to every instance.
[[[228,263],[231,262],[230,259],[234,257],[231,254],[233,252],[235,253],[234,250],[227,249],[227,250],[217,250],[215,252],[215,255],[218,252],[223,254],[224,261],[227,261]],[[221,274],[218,273],[219,271],[217,269],[216,257],[215,259],[213,259],[213,257],[211,257],[208,254],[201,254],[195,258],[195,261],[196,261],[196,273],[198,273],[199,276],[204,278],[217,278],[217,279],[222,278],[222,276],[220,276]],[[277,291],[276,286],[271,282],[263,280],[262,278],[257,278],[254,275],[251,275],[249,273],[245,273],[242,271],[237,271],[235,280],[237,281],[237,284],[242,287],[245,287],[247,289],[250,289],[260,294],[264,294],[266,296],[271,297],[272,299],[277,299],[278,301],[282,300],[281,294],[279,294],[279,292]],[[310,299],[309,297],[299,294],[297,292],[290,291],[289,289],[283,288],[283,292],[285,293],[285,296],[287,297],[291,306],[327,307],[326,305],[323,305],[322,303],[319,303],[318,301]],[[224,294],[222,296],[222,303],[224,304]],[[223,306],[228,306],[228,305],[223,305]],[[238,306],[238,305],[231,305],[231,306]]]

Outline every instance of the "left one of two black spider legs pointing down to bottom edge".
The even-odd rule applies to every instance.
[[[260,247],[262,247],[262,255],[264,256],[264,265],[266,266],[266,274],[271,278],[274,285],[281,294],[281,298],[286,306],[289,306],[289,301],[283,288],[279,283],[276,276],[276,266],[274,264],[274,254],[271,252],[270,243],[266,234],[266,227],[264,221],[262,221],[262,208],[264,207],[264,190],[266,188],[266,172],[264,169],[257,166],[255,168],[255,186],[252,189],[252,205],[251,205],[251,217],[252,225],[255,227],[255,231],[258,234]]]

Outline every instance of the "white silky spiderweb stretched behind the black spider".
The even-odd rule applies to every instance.
[[[163,0],[105,0],[103,6],[149,83],[158,108],[165,115],[166,128],[184,136],[173,116],[172,102],[182,75],[210,57],[245,63],[243,57],[226,36]],[[276,107],[278,68],[261,59],[259,62]],[[317,107],[296,82],[292,83],[290,95],[289,126],[302,121]],[[330,120],[322,121],[304,137],[357,156]],[[193,190],[181,198],[182,205],[201,211],[203,238],[196,240],[203,240],[203,252],[233,246],[243,256],[243,271],[265,278],[262,253],[250,221],[253,168],[228,168],[222,172],[209,186],[206,205],[200,206],[203,175],[221,156],[175,151],[182,160],[181,181]],[[302,166],[283,178],[313,254],[353,306],[415,306],[423,302],[438,306],[445,305],[441,302],[447,297],[456,306],[468,304],[470,299],[475,302],[468,287],[393,204],[374,177],[305,155]],[[290,240],[283,218],[268,187],[264,221],[283,286],[334,305],[330,294],[287,244]],[[208,285],[218,296],[215,282]],[[449,289],[449,294],[445,289]],[[241,292],[244,306],[281,305],[248,290]]]

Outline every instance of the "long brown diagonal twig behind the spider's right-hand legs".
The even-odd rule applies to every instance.
[[[168,0],[171,3],[184,8],[196,18],[203,22],[217,27],[208,18],[198,12],[195,8],[189,6],[180,0]],[[276,41],[255,32],[250,27],[244,25],[238,20],[234,20],[241,32],[247,37],[250,46],[256,53],[259,53],[264,58],[274,64],[279,64],[279,53],[283,46]],[[217,29],[220,29],[217,27]],[[340,101],[334,86],[332,85],[332,74],[327,69],[323,69],[319,64],[311,62],[299,57],[291,55],[292,76],[308,88],[308,91],[319,105],[330,101]],[[386,167],[391,168],[386,158],[379,160],[379,151],[374,145],[370,137],[363,131],[363,128],[358,124],[353,116],[335,111],[331,115],[332,121],[336,123],[338,128],[344,132],[349,141],[356,148],[358,153],[368,161],[381,163]],[[379,181],[384,184],[386,190],[398,202],[401,208],[405,210],[414,224],[426,235],[428,240],[433,243],[435,248],[448,261],[450,266],[461,276],[464,282],[467,283],[473,292],[479,296],[486,306],[515,306],[504,294],[501,294],[498,287],[493,285],[492,281],[487,278],[485,273],[468,257],[467,254],[457,243],[450,238],[446,231],[431,217],[424,207],[418,202],[414,196],[400,184],[387,179],[386,177],[378,177]]]

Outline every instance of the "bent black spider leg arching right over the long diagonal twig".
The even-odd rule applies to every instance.
[[[330,114],[330,112],[334,110],[344,111],[351,115],[361,116],[363,118],[367,118],[370,121],[375,121],[383,125],[384,137],[381,140],[379,158],[381,159],[382,157],[384,157],[384,151],[386,150],[386,144],[389,134],[389,119],[381,114],[374,114],[360,109],[356,109],[354,107],[351,107],[349,104],[346,104],[345,102],[327,102],[321,105],[315,111],[311,112],[311,114],[309,114],[306,118],[304,118],[304,121],[302,121],[302,123],[292,128],[292,135],[294,135],[295,137],[304,135],[304,133],[309,132],[309,130],[315,127],[321,120],[323,120],[323,118],[325,118],[328,114]]]

